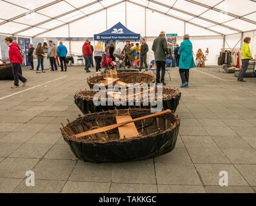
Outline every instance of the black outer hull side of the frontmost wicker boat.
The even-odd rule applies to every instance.
[[[84,162],[131,162],[170,153],[177,142],[179,126],[159,135],[133,138],[124,142],[84,144],[66,138],[64,140],[75,156]]]

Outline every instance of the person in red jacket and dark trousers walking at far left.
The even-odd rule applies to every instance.
[[[12,63],[12,73],[14,75],[14,85],[11,86],[12,89],[19,87],[19,80],[23,82],[23,86],[25,86],[28,82],[28,80],[26,80],[26,78],[19,73],[19,68],[23,62],[23,57],[21,56],[21,53],[19,53],[18,44],[13,41],[14,39],[12,39],[12,37],[5,38],[5,43],[7,46],[9,46],[9,59]]]

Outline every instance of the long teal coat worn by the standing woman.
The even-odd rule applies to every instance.
[[[184,70],[190,70],[195,67],[195,61],[193,60],[193,46],[192,42],[186,39],[181,43],[179,48],[179,53],[181,57],[179,59],[179,68]]]

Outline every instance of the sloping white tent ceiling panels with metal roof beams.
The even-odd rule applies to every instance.
[[[0,32],[37,36],[124,1],[219,35],[256,30],[250,0],[0,0]]]

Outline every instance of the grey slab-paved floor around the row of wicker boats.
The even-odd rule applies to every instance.
[[[83,68],[25,70],[29,83],[15,90],[1,80],[0,192],[255,192],[256,79],[196,70],[181,89],[172,153],[125,164],[81,162],[61,137],[60,123],[81,114],[73,95],[88,88]],[[178,71],[171,75],[168,86],[179,87]],[[26,187],[26,171],[34,171],[35,187]],[[228,187],[219,186],[220,171],[228,172]]]

